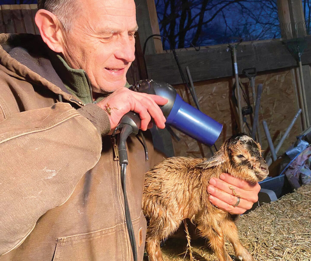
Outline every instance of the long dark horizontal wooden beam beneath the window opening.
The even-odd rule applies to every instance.
[[[303,64],[311,64],[311,36],[302,57]],[[203,81],[233,75],[230,50],[226,45],[195,50],[177,50],[181,68],[186,75],[188,65],[193,81]],[[295,67],[297,62],[280,39],[242,43],[237,49],[239,74],[244,68],[256,67],[258,72]],[[170,84],[182,83],[173,53],[146,55],[149,78]]]

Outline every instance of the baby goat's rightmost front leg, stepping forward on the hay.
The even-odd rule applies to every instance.
[[[234,248],[235,256],[243,261],[254,261],[251,254],[244,248],[239,240],[238,229],[231,220],[225,220],[221,223],[221,228]]]

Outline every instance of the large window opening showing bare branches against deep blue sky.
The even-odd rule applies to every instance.
[[[281,37],[276,0],[155,0],[164,49]]]

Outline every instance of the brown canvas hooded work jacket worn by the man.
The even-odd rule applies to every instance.
[[[106,112],[68,93],[40,36],[0,34],[0,44],[0,260],[132,260]],[[144,173],[163,159],[146,142],[148,161],[128,140],[139,260]]]

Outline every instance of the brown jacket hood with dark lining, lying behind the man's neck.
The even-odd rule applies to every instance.
[[[41,85],[64,99],[82,105],[64,86],[50,62],[57,55],[32,34],[0,34],[0,63],[12,77]]]

